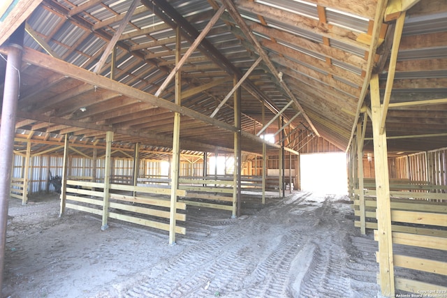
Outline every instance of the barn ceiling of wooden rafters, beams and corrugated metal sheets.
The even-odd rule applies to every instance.
[[[265,124],[288,151],[298,149],[300,134],[346,150],[367,117],[369,80],[378,74],[381,97],[389,98],[388,149],[447,144],[447,1],[8,4],[0,6],[0,53],[6,59],[8,36],[25,22],[16,128],[28,138],[103,142],[114,131],[115,142],[165,150],[179,112],[182,149],[228,151],[237,84],[242,150],[262,151]],[[5,67],[0,59],[1,89]]]

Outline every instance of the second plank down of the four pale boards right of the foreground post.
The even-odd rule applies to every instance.
[[[377,230],[374,230],[374,239],[376,239],[376,235]],[[418,246],[447,251],[447,238],[444,237],[393,232],[393,244]]]

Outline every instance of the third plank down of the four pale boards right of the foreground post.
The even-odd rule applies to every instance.
[[[394,265],[407,269],[447,275],[447,263],[423,258],[393,255]]]

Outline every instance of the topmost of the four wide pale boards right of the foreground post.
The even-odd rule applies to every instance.
[[[401,223],[416,223],[419,225],[438,225],[441,227],[447,227],[447,214],[392,210],[391,219],[392,221],[399,221]]]

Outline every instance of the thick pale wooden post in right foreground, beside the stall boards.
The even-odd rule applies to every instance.
[[[372,133],[374,140],[374,165],[376,168],[377,224],[379,240],[379,274],[383,296],[394,297],[393,241],[391,239],[390,181],[388,179],[388,152],[386,130],[380,134],[381,105],[379,75],[371,78]]]

